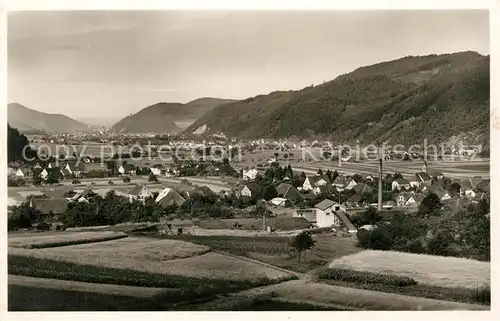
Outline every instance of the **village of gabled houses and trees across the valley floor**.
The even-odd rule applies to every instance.
[[[203,145],[203,152],[206,147]],[[187,150],[187,146],[185,148]],[[134,164],[130,155],[125,155],[129,158],[124,159],[121,159],[123,155],[120,159],[114,155],[106,161],[87,155],[79,159],[68,157],[36,162],[32,166],[12,166],[8,168],[9,205],[29,202],[45,217],[57,217],[72,202],[89,201],[93,195],[105,197],[113,191],[131,201],[144,202],[151,197],[163,207],[180,207],[189,199],[190,192],[205,186],[220,199],[235,200],[228,204],[235,204],[237,200],[240,208],[259,204],[269,208],[269,215],[303,217],[311,226],[356,232],[345,214],[355,216],[370,206],[378,207],[378,173],[364,175],[352,174],[351,171],[351,174],[344,174],[342,168],[332,166],[305,174],[300,171],[300,163],[293,163],[298,165],[298,170],[292,168],[290,161],[295,156],[292,148],[281,155],[251,152],[252,161],[257,158],[264,160],[251,167],[245,166],[244,162],[229,162],[227,158],[220,162],[210,161],[206,154],[207,160],[202,156],[197,160],[176,159],[170,163],[153,159],[151,163]],[[300,150],[295,149],[295,153],[301,155]],[[262,158],[265,155],[271,157]],[[279,156],[281,160],[278,160]],[[281,167],[280,161],[288,165]],[[416,211],[429,193],[436,194],[452,211],[465,208],[468,203],[489,199],[488,178],[447,177],[429,168],[427,161],[412,163],[421,164],[421,170],[412,176],[407,174],[405,178],[399,172],[382,173],[383,193],[379,209],[383,209],[388,218],[391,211]],[[308,172],[311,173],[311,169]],[[238,217],[238,213],[245,213],[248,217],[247,212],[251,212],[234,211],[231,205],[228,206],[229,211],[234,212],[231,217]],[[266,226],[262,228],[267,229]]]

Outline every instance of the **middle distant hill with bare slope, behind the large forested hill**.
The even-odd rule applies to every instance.
[[[205,97],[187,104],[160,102],[123,118],[111,130],[115,133],[122,130],[134,133],[178,133],[181,131],[182,124],[189,125],[214,107],[233,101]]]

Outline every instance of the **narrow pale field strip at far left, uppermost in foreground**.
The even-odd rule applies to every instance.
[[[9,235],[9,247],[22,248],[49,248],[60,247],[67,245],[85,244],[111,241],[116,239],[126,238],[127,234],[121,232],[81,232],[81,233],[51,233],[45,235],[26,235],[14,234]]]

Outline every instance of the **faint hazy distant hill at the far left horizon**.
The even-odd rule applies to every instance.
[[[68,116],[43,113],[18,103],[8,104],[7,118],[9,124],[20,132],[62,133],[90,129],[86,124]]]

